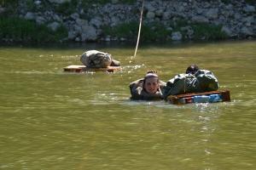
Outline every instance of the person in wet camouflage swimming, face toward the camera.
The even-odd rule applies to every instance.
[[[143,100],[163,99],[162,91],[165,87],[166,82],[160,81],[156,71],[148,71],[145,77],[129,85],[131,99]]]

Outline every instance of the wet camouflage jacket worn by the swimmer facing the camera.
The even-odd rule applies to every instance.
[[[160,88],[155,94],[148,94],[148,92],[143,88],[143,78],[131,82],[129,88],[131,91],[131,99],[158,100],[163,99],[162,92],[166,88],[166,82],[160,81]]]

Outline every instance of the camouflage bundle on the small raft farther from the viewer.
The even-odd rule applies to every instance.
[[[80,58],[81,62],[90,68],[106,68],[111,65],[111,54],[103,53],[97,50],[84,52]]]

